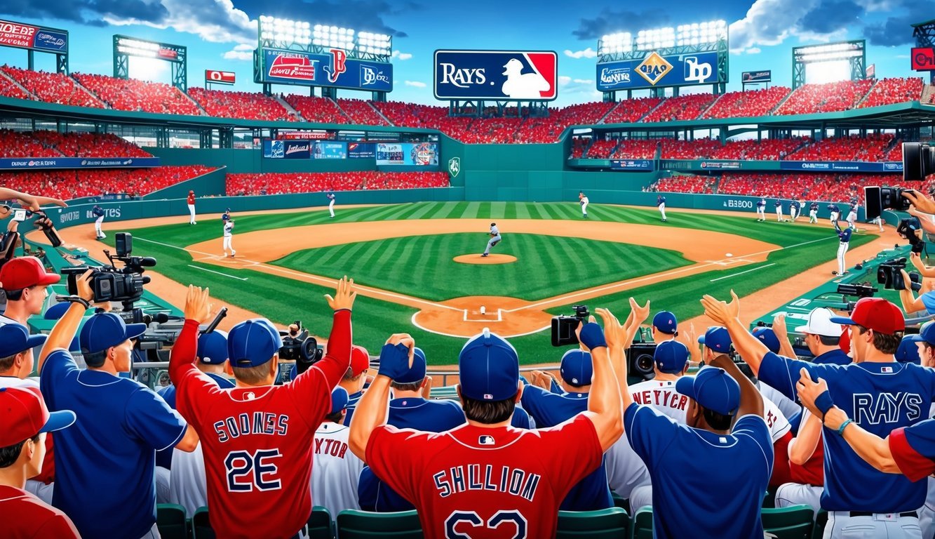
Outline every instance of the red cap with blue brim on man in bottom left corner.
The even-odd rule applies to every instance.
[[[49,413],[37,387],[0,387],[0,447],[19,444],[39,432],[62,430],[75,422],[71,410]]]

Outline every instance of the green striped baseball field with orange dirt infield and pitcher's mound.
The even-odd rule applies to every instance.
[[[218,216],[199,216],[195,226],[187,215],[106,224],[105,242],[132,232],[134,255],[155,256],[154,270],[169,280],[209,286],[216,302],[280,325],[301,320],[323,337],[330,313],[322,296],[351,276],[361,287],[354,342],[378,354],[389,334],[409,332],[432,365],[453,364],[465,337],[484,327],[510,336],[524,364],[557,361],[550,319],[572,305],[626,316],[633,296],[689,318],[701,313],[703,294],[795,283],[837,249],[827,220],[757,223],[753,213],[673,209],[661,223],[655,210],[588,210],[583,219],[568,202],[423,202],[338,206],[333,219],[320,208],[235,215],[234,258],[222,255]],[[503,240],[482,258],[492,222]],[[857,234],[851,249],[876,238]]]

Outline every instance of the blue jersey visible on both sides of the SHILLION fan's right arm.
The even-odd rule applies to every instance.
[[[586,411],[587,396],[587,393],[559,395],[539,386],[525,386],[522,402],[536,420],[536,427],[548,429]],[[600,467],[572,487],[558,508],[562,511],[595,511],[608,507],[613,507],[613,498],[607,485],[607,469],[601,460]]]

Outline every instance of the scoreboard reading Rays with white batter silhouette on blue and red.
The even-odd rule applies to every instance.
[[[552,101],[554,51],[435,51],[436,99]]]

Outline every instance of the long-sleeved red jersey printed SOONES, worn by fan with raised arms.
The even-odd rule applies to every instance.
[[[218,537],[291,537],[311,514],[313,436],[351,364],[351,312],[335,313],[328,355],[285,386],[221,389],[194,366],[198,324],[186,320],[169,377],[198,433]]]

